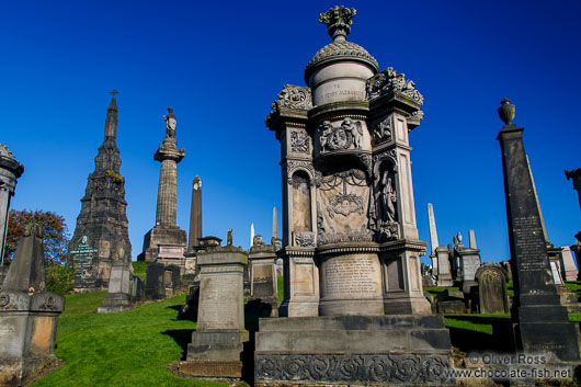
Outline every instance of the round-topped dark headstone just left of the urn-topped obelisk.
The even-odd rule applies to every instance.
[[[509,273],[495,262],[486,262],[476,271],[478,283],[478,311],[480,314],[508,314]]]

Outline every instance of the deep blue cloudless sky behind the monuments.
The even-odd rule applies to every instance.
[[[341,4],[341,3],[338,3]],[[349,41],[415,81],[423,123],[410,135],[420,238],[433,203],[441,244],[476,230],[485,261],[509,258],[497,107],[516,104],[548,236],[581,229],[572,182],[581,168],[581,2],[352,1]],[[281,208],[280,145],[264,125],[285,83],[331,42],[318,23],[331,1],[2,1],[0,141],[25,172],[12,208],[53,210],[75,229],[116,88],[133,257],[155,225],[164,136],[178,118],[178,223],[203,180],[204,235],[249,246],[271,237]],[[281,210],[278,212],[281,219]],[[282,226],[280,226],[282,230]],[[423,261],[428,262],[424,258]]]

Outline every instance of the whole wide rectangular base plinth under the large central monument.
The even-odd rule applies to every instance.
[[[441,316],[261,319],[254,383],[455,385],[451,357]]]

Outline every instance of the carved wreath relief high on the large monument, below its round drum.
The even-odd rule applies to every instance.
[[[345,117],[343,122],[333,126],[324,121],[319,126],[321,150],[361,149],[363,125],[361,121]]]

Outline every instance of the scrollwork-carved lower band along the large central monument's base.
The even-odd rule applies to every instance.
[[[437,354],[255,355],[254,380],[447,385],[449,362]]]

